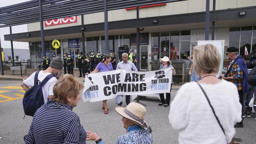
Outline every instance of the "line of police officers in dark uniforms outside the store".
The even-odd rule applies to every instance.
[[[92,72],[96,66],[98,65],[98,63],[100,63],[100,61],[102,61],[102,59],[104,58],[104,55],[102,55],[100,53],[100,51],[98,50],[97,54],[94,54],[94,50],[91,51],[91,55],[89,54],[84,54],[82,52],[78,52],[78,68],[79,68],[79,76],[78,77],[83,77],[85,78],[85,74],[88,72]],[[110,55],[111,55],[111,64],[113,66],[113,70],[116,69],[116,56],[114,55],[114,51],[110,50]],[[55,57],[55,55],[52,56],[53,58]],[[134,54],[133,50],[129,51],[129,61],[133,62],[135,65],[137,63],[137,58]],[[51,63],[51,59],[49,58],[49,56],[44,55],[44,59],[41,63],[41,66],[43,67],[43,70],[46,70],[49,65]],[[63,57],[63,68],[64,68],[64,74],[71,74],[72,76],[74,76],[74,59],[71,57],[71,54],[67,54],[64,53],[64,57]]]

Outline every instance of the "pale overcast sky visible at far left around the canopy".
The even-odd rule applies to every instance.
[[[0,0],[0,7],[10,6],[13,4],[18,4],[21,2],[27,2],[29,0]],[[27,32],[27,24],[22,24],[19,26],[12,26],[12,33],[22,33]],[[11,48],[10,41],[4,41],[4,35],[10,34],[9,27],[0,28],[0,39],[2,48]],[[13,48],[28,49],[28,42],[13,42]]]

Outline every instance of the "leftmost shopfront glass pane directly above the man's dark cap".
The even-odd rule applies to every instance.
[[[229,32],[229,47],[234,46],[239,48],[239,41],[240,41],[240,27],[237,28],[230,28]]]

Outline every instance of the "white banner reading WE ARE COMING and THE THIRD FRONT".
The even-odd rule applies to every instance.
[[[171,90],[172,73],[171,68],[166,68],[149,72],[112,70],[88,74],[82,99],[83,102],[98,102],[117,95],[167,93]]]

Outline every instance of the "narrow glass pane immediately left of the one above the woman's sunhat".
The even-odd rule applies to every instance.
[[[151,33],[151,61],[159,61],[160,57],[160,33]]]

